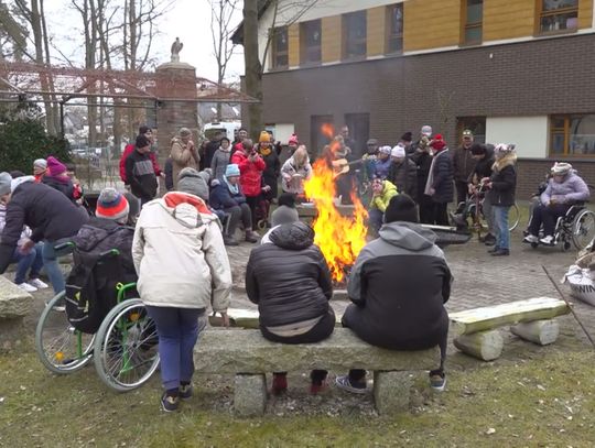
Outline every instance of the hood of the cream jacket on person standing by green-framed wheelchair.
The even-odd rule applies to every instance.
[[[177,222],[190,229],[217,221],[217,216],[208,209],[205,201],[188,193],[166,193],[161,199],[158,199],[158,204]]]

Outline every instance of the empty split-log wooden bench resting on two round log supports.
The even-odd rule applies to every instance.
[[[560,332],[554,317],[570,313],[564,301],[536,297],[527,301],[467,309],[450,314],[454,345],[462,352],[484,361],[500,357],[504,339],[499,327],[510,326],[513,335],[540,346],[555,342]]]

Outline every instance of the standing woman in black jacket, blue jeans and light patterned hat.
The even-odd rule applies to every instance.
[[[491,176],[484,177],[482,183],[488,188],[487,198],[494,209],[494,227],[496,245],[489,252],[494,256],[510,254],[510,230],[508,230],[508,212],[515,205],[517,188],[517,154],[513,144],[498,144],[494,153],[496,163]]]

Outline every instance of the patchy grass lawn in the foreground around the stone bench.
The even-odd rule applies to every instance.
[[[422,400],[412,414],[351,409],[239,419],[221,404],[231,394],[230,379],[195,387],[181,412],[164,414],[158,379],[116,394],[93,368],[52,375],[28,348],[0,356],[0,446],[595,446],[595,353],[545,350],[538,358],[451,372],[443,394],[420,383]]]

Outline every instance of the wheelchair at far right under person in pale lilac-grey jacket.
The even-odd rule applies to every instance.
[[[531,222],[531,218],[529,218]],[[542,237],[540,230],[539,238]],[[552,247],[562,244],[562,250],[567,251],[574,244],[576,250],[585,249],[595,238],[595,212],[585,207],[585,203],[572,205],[564,216],[555,221]],[[543,245],[532,242],[531,248]]]

